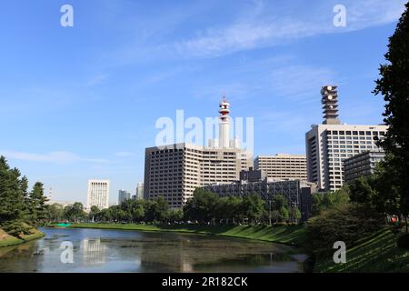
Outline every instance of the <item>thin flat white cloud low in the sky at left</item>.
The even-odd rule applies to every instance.
[[[104,158],[82,157],[74,153],[65,152],[65,151],[50,152],[46,154],[34,154],[34,153],[25,153],[25,152],[17,152],[17,151],[0,150],[0,155],[3,155],[9,159],[24,160],[24,161],[30,161],[30,162],[54,163],[54,164],[71,164],[71,163],[78,163],[78,162],[88,162],[88,163],[97,163],[97,164],[111,163],[109,160],[106,160]]]

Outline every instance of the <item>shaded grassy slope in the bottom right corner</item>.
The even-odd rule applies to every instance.
[[[409,272],[409,251],[396,246],[398,234],[384,228],[346,250],[346,263],[333,257],[317,260],[314,272]]]

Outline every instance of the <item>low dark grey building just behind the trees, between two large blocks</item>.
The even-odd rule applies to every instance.
[[[242,171],[240,180],[229,184],[214,183],[205,186],[205,189],[217,193],[219,196],[247,196],[259,194],[266,201],[266,205],[275,195],[287,198],[289,206],[298,207],[302,219],[306,220],[311,213],[311,196],[317,190],[314,183],[300,180],[271,181],[261,170]]]

